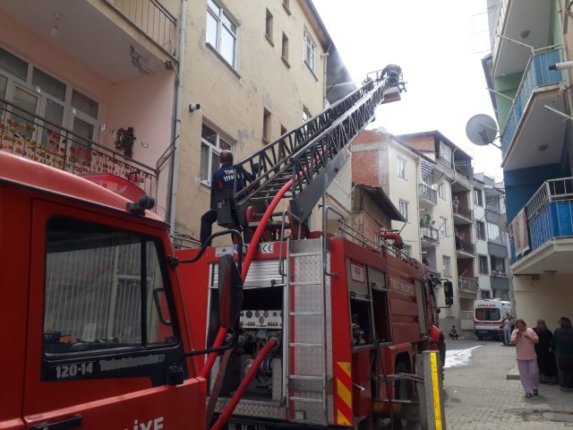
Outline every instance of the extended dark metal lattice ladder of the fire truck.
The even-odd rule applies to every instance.
[[[290,199],[291,211],[304,222],[348,159],[346,148],[372,121],[375,108],[399,99],[395,96],[402,90],[401,69],[391,64],[345,99],[238,163],[235,206],[241,225],[248,227],[249,207],[264,211],[291,180],[289,190],[278,198]]]

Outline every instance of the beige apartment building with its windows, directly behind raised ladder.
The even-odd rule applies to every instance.
[[[342,86],[329,89],[351,80],[311,1],[203,0],[187,8],[172,220],[177,236],[198,239],[220,150],[244,159],[320,113],[327,97],[344,95]],[[339,176],[331,187],[342,188],[337,200],[349,207],[349,170]]]

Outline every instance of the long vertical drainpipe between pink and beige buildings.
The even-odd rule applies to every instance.
[[[183,73],[185,59],[185,22],[187,0],[181,1],[181,27],[179,29],[179,73],[175,92],[175,139],[173,141],[173,165],[171,167],[171,197],[169,199],[169,225],[171,236],[175,234],[175,211],[177,209],[177,186],[179,184],[179,142],[181,142],[181,104],[183,102]],[[175,73],[176,74],[176,73]]]

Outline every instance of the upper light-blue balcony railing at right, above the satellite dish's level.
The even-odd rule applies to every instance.
[[[563,81],[560,71],[549,70],[549,66],[559,63],[560,58],[560,49],[552,49],[541,54],[535,54],[529,58],[526,71],[523,74],[521,83],[517,88],[515,99],[509,110],[508,119],[503,127],[503,132],[501,132],[502,157],[505,157],[508,153],[509,146],[511,142],[513,142],[521,118],[526,111],[527,103],[534,91],[544,85]]]

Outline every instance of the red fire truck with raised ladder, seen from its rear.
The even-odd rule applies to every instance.
[[[246,250],[177,254],[197,259],[205,252],[180,270],[194,339],[213,348],[226,333],[235,339],[234,348],[206,363],[214,369],[207,412],[208,420],[218,416],[213,428],[222,428],[233,409],[228,428],[381,428],[385,417],[412,404],[415,355],[432,348],[429,333],[438,325],[439,280],[401,253],[395,233],[370,242],[324,204],[325,229],[310,232],[305,223],[346,161],[347,145],[374,108],[399,99],[401,90],[401,70],[390,65],[238,163],[234,189],[212,190],[219,224],[242,228],[250,242]],[[278,211],[284,199],[287,209]],[[329,216],[340,217],[341,235],[326,230]],[[218,262],[243,253],[244,301],[238,327],[228,333],[218,327]]]

